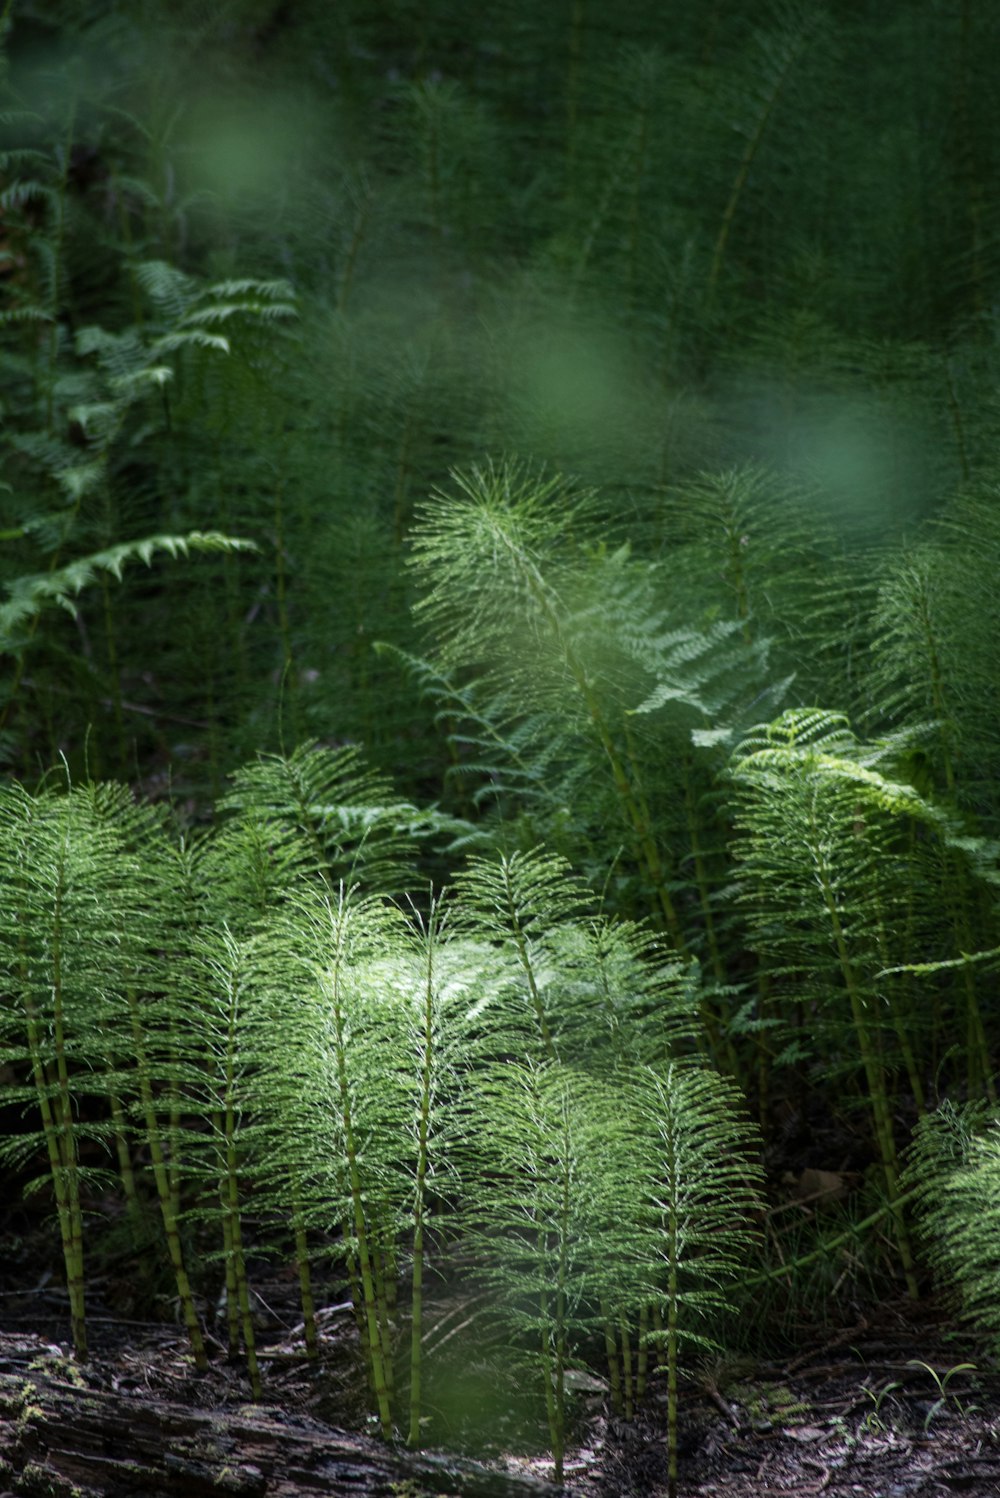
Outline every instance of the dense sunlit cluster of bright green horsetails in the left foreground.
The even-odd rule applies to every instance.
[[[672,1056],[683,965],[587,917],[563,860],[472,858],[409,912],[362,893],[403,851],[377,789],[350,753],[302,749],[238,774],[219,831],[187,842],[123,786],[12,783],[0,1034],[37,1129],[1,1153],[48,1161],[81,1357],[88,1201],[120,1192],[141,1266],[153,1197],[196,1363],[195,1287],[222,1261],[259,1396],[250,1218],[257,1260],[298,1266],[311,1356],[311,1264],[341,1266],[386,1437],[406,1333],[413,1444],[424,1276],[472,1254],[485,1315],[539,1369],[561,1471],[566,1375],[602,1327],[618,1387],[620,1342],[662,1350],[674,1428],[678,1345],[711,1345],[753,1236],[751,1135],[734,1085]]]

